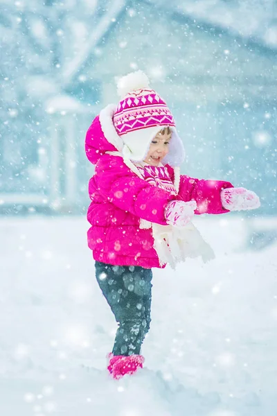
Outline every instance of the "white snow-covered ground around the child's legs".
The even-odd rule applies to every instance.
[[[85,218],[1,218],[0,415],[276,416],[277,245],[244,223],[197,218],[216,259],[154,269],[145,369],[114,381]]]

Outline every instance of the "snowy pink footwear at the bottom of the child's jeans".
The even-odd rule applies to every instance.
[[[139,367],[143,367],[144,358],[141,355],[134,354],[131,356],[114,356],[108,355],[109,365],[107,369],[114,379],[120,379],[125,374],[134,374]]]

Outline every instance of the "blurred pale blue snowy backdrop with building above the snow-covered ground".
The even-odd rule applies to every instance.
[[[0,211],[84,215],[84,136],[142,69],[186,148],[182,173],[256,191],[276,215],[275,0],[1,0]]]

